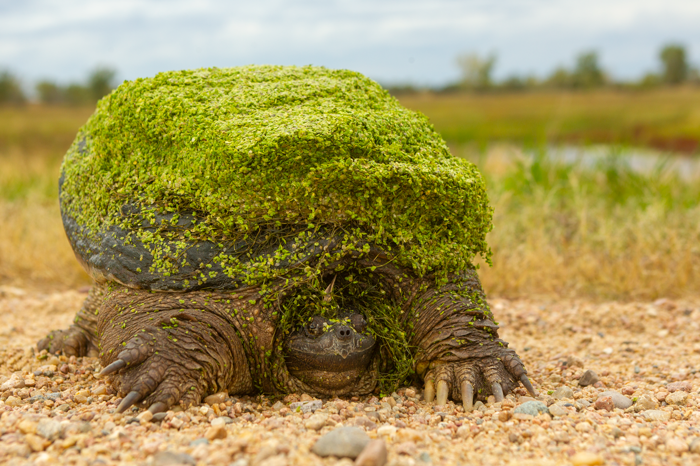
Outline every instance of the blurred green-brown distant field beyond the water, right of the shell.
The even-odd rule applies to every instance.
[[[452,143],[510,141],[637,145],[692,153],[700,142],[700,88],[399,94]]]

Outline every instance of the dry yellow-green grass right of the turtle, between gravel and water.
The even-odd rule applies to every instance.
[[[584,168],[523,160],[502,150],[481,164],[495,213],[493,268],[479,274],[492,295],[700,292],[698,180],[671,170],[635,173],[611,161]]]

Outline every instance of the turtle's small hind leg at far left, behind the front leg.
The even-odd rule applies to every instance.
[[[104,284],[94,284],[76,313],[73,325],[53,330],[36,343],[39,351],[66,356],[97,356],[97,314],[104,299]]]

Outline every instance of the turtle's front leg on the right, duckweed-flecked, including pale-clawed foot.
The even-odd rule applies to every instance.
[[[425,381],[426,401],[444,405],[449,396],[461,399],[469,410],[474,398],[493,395],[502,401],[519,382],[536,396],[522,361],[498,338],[476,270],[452,275],[439,289],[434,280],[426,284],[408,318],[414,328],[411,343],[419,348],[416,372]]]

